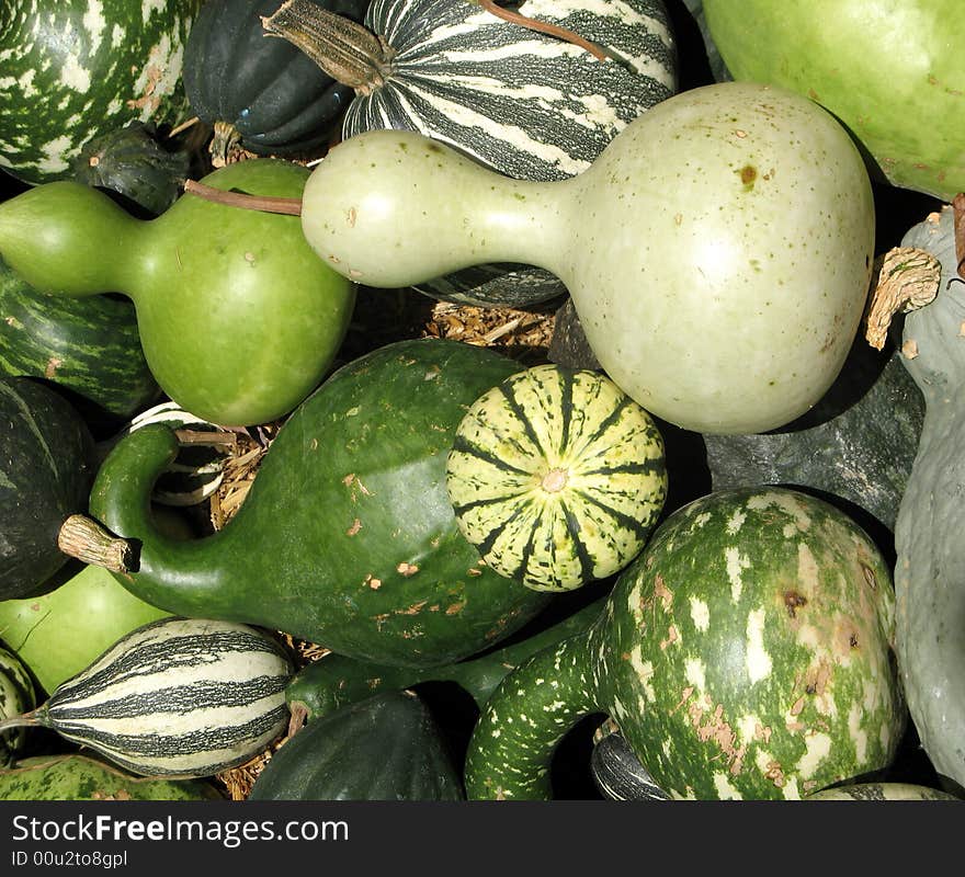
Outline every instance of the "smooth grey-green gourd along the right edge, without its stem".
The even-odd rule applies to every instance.
[[[906,315],[901,362],[926,400],[921,440],[895,524],[897,653],[908,707],[935,771],[965,785],[965,281],[954,209],[916,224],[902,247],[941,263],[931,304]]]

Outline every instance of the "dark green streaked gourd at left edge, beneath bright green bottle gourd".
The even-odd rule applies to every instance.
[[[0,374],[63,387],[92,426],[126,420],[160,394],[140,349],[130,301],[45,295],[2,261]]]

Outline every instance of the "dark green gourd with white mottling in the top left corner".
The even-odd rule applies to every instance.
[[[0,4],[0,168],[72,176],[83,145],[128,122],[183,121],[184,44],[201,0]]]

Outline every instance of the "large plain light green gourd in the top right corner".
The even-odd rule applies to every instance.
[[[792,89],[861,144],[876,179],[951,201],[965,190],[958,117],[965,37],[956,0],[705,0],[735,79]],[[883,75],[886,70],[887,75]]]

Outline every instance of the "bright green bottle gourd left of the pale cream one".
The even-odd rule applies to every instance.
[[[204,181],[298,197],[307,175],[258,159]],[[80,183],[36,186],[0,204],[0,257],[42,292],[129,296],[158,384],[223,425],[297,406],[334,360],[354,305],[354,285],[319,264],[296,217],[194,196],[141,220]]]

